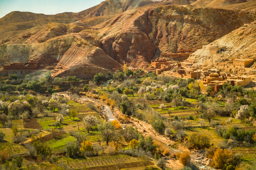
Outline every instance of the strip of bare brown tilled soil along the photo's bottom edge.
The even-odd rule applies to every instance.
[[[153,162],[150,162],[149,165],[154,165]],[[132,162],[127,164],[122,164],[122,168],[134,168],[134,167],[143,167],[144,165],[141,162]],[[116,165],[107,165],[107,166],[100,166],[100,167],[90,167],[86,169],[100,169],[100,170],[116,170],[119,169]]]

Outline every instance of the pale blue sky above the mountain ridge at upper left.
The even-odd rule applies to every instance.
[[[80,12],[104,0],[0,0],[0,18],[12,11],[43,13]]]

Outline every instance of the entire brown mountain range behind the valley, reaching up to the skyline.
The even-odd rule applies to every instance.
[[[195,2],[107,0],[80,13],[6,23],[0,28],[4,32],[0,38],[10,41],[0,45],[0,58],[5,62],[32,59],[41,68],[63,66],[64,71],[56,75],[78,74],[82,70],[81,76],[88,78],[86,72],[90,76],[99,70],[109,73],[124,63],[147,67],[161,53],[200,49],[254,21],[251,11],[186,5]],[[1,19],[6,20],[6,16]],[[34,35],[19,39],[30,33]]]

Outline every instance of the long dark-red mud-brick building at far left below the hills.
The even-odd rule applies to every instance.
[[[10,65],[3,65],[3,70],[36,70],[37,67],[37,62],[10,63]]]

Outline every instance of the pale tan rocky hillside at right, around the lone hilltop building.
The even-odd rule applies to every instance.
[[[220,39],[212,42],[213,45],[227,46],[227,51],[220,52],[217,55],[212,55],[209,50],[198,49],[195,53],[189,56],[188,61],[198,61],[196,64],[211,65],[212,57],[215,65],[219,61],[223,61],[226,57],[256,57],[256,28],[255,22],[246,24],[229,34],[221,37]],[[210,62],[207,62],[210,61]]]

